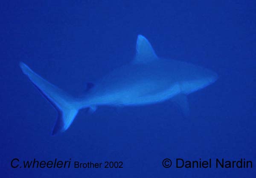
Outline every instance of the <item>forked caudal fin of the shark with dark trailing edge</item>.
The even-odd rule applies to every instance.
[[[58,118],[52,129],[52,135],[67,130],[79,111],[79,108],[76,106],[76,99],[47,82],[47,80],[41,78],[25,63],[20,62],[20,68],[23,73],[28,76],[29,80],[32,81],[35,87],[58,111]]]

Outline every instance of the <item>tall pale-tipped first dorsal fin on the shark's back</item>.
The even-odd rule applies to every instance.
[[[141,34],[137,38],[136,52],[135,63],[148,63],[158,59],[151,44]]]

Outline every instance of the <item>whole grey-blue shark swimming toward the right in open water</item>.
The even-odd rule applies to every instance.
[[[57,110],[52,135],[66,131],[80,109],[96,111],[98,106],[141,106],[172,100],[184,115],[189,114],[187,95],[214,83],[218,75],[204,67],[156,55],[149,41],[138,35],[136,55],[131,62],[87,83],[82,97],[73,97],[32,71],[20,68]]]

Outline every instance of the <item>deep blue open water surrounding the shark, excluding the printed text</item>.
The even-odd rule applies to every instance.
[[[0,177],[253,178],[256,175],[256,3],[227,1],[5,1],[0,5]],[[166,101],[86,110],[60,135],[57,113],[18,63],[72,95],[129,63],[138,34],[160,57],[218,73],[188,96],[191,114]],[[11,161],[122,161],[120,169],[12,168]],[[225,158],[248,169],[163,168],[162,160]]]

